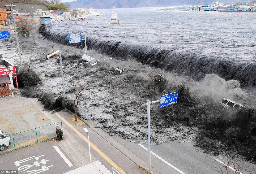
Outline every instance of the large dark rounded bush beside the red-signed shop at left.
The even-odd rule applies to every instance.
[[[17,75],[17,81],[20,87],[24,86],[37,86],[41,84],[42,79],[38,73],[33,70],[29,72],[24,68]]]

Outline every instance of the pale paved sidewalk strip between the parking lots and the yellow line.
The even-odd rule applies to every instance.
[[[29,101],[35,105],[35,107],[40,110],[45,116],[52,122],[56,123],[59,120],[53,118],[47,111],[44,111],[44,106],[37,99],[29,98]],[[69,158],[74,162],[76,167],[82,167],[89,164],[89,153],[76,139],[66,130],[63,129],[63,140],[58,141],[57,144],[61,149],[69,156]],[[91,155],[92,162],[97,161]]]

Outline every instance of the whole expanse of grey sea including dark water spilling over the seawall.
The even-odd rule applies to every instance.
[[[43,36],[68,44],[68,35],[85,33],[87,47],[114,57],[192,76],[216,73],[241,87],[256,86],[256,13],[160,11],[159,8],[119,8],[119,25],[110,25],[112,9],[102,18],[56,23]],[[73,44],[83,47],[82,44]]]

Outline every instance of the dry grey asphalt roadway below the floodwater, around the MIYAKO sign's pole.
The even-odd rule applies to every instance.
[[[127,142],[120,137],[113,138],[145,162],[148,161],[147,145]],[[151,153],[151,166],[161,174],[218,174],[219,165],[223,165],[216,161],[217,159],[223,162],[223,159],[216,156],[207,156],[188,142],[170,141],[161,143],[151,146],[151,152],[157,155]],[[229,166],[232,167],[231,164]],[[253,168],[256,169],[256,166],[251,164],[250,169]],[[230,168],[229,172],[235,174]],[[246,173],[248,172],[244,174]]]

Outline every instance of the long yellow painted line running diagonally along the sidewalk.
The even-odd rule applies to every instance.
[[[88,143],[88,139],[80,133],[74,126],[72,126],[67,120],[65,120],[61,115],[59,115],[57,112],[56,114],[64,123],[66,123],[73,131],[75,131],[76,134],[78,134],[86,143]],[[117,166],[116,163],[114,163],[107,155],[105,155],[100,149],[98,149],[91,141],[90,141],[90,146],[100,154],[109,164],[111,164],[120,174],[126,174],[126,172],[119,166]]]

